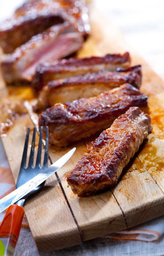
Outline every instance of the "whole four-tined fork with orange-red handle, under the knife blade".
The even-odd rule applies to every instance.
[[[46,144],[45,144],[45,153],[43,167],[40,167],[41,162],[41,153],[42,153],[42,133],[43,127],[40,128],[40,137],[38,145],[38,154],[36,159],[36,165],[33,167],[34,162],[34,149],[35,149],[35,135],[36,127],[33,131],[33,139],[31,144],[30,158],[28,162],[28,167],[26,168],[27,160],[27,149],[29,141],[30,128],[27,129],[27,135],[25,140],[25,146],[22,156],[22,162],[20,166],[20,172],[17,179],[16,189],[25,184],[27,181],[30,181],[32,178],[37,176],[40,172],[46,170],[48,165],[48,126],[46,127]],[[18,200],[14,205],[10,205],[6,215],[0,226],[0,255],[12,256],[14,254],[14,249],[17,244],[17,240],[20,234],[20,228],[23,220],[24,210],[22,208],[25,199],[39,191],[45,184],[45,181],[42,182],[39,186],[29,192],[27,195]],[[20,197],[19,197],[20,198]]]

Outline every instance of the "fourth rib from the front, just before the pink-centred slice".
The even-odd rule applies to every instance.
[[[39,65],[34,78],[37,91],[51,80],[69,78],[74,75],[84,75],[88,72],[103,70],[114,71],[118,67],[127,68],[130,65],[129,52],[121,54],[107,54],[104,57],[69,58],[55,61],[51,65]]]

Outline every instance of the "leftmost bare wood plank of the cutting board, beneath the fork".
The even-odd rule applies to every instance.
[[[8,136],[2,138],[15,182],[19,174],[28,126],[32,131],[33,123],[30,116],[26,114],[19,117],[13,128],[10,129]],[[33,133],[30,133],[29,145],[32,141],[32,135]],[[39,136],[36,133],[34,163],[36,161],[38,141]],[[43,154],[44,150],[42,161]],[[29,155],[30,147],[27,153],[27,162]],[[48,165],[51,165],[50,162]],[[77,225],[55,174],[46,180],[43,189],[25,201],[23,207],[39,251],[61,249],[82,242]]]

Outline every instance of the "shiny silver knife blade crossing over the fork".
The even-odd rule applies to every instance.
[[[28,194],[32,189],[36,188],[43,181],[49,178],[53,173],[59,170],[73,155],[76,148],[71,149],[68,153],[66,153],[63,157],[53,163],[46,170],[39,173],[37,176],[32,178],[30,181],[27,181],[24,185],[20,186],[18,189],[15,189],[12,193],[7,195],[6,197],[0,200],[0,212],[7,209],[10,205],[14,204],[26,194]]]

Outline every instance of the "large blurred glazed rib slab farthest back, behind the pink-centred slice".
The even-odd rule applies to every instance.
[[[90,33],[89,24],[84,26],[83,23],[83,7],[84,1],[79,1],[79,7],[69,0],[29,1],[1,24],[0,46],[4,53],[10,53],[32,36],[64,21],[75,24],[77,28],[81,26],[80,31],[87,28],[88,31],[85,32]]]

